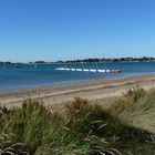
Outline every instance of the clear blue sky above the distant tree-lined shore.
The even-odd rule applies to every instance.
[[[0,0],[0,61],[155,56],[155,0]]]

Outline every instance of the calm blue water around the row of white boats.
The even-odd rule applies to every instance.
[[[90,72],[70,72],[55,71],[55,68],[64,66],[60,64],[39,64],[0,68],[0,91],[14,89],[34,87],[41,85],[65,85],[76,82],[86,82],[87,80],[99,80],[113,76],[131,76],[138,74],[155,73],[155,62],[122,62],[106,63],[106,69],[120,69],[121,74],[111,73],[90,73]],[[68,64],[70,68],[96,68],[95,63]],[[104,69],[105,64],[97,64]]]

